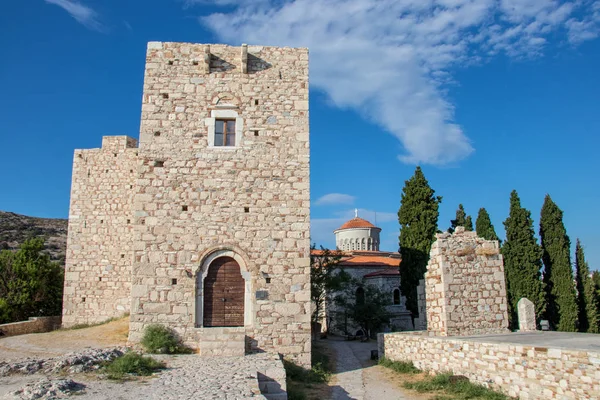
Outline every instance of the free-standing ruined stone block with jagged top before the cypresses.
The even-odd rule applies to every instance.
[[[498,242],[463,227],[436,237],[425,273],[427,330],[440,336],[508,332]]]

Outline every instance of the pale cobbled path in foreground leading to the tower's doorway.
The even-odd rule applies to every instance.
[[[284,381],[283,365],[271,354],[245,357],[202,358],[198,355],[154,356],[167,363],[167,369],[150,378],[122,383],[98,379],[93,374],[71,374],[69,378],[83,385],[78,399],[86,400],[181,400],[181,399],[265,399],[260,393],[257,371]],[[55,382],[64,376],[10,375],[0,378],[1,399],[31,399],[35,391],[50,379]],[[26,387],[25,393],[14,394]],[[280,387],[271,382],[271,387]],[[268,396],[268,395],[267,395]],[[52,397],[49,397],[52,398]],[[59,397],[62,398],[62,397]]]

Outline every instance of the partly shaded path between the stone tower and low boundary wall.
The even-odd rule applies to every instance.
[[[327,346],[335,352],[336,370],[331,379],[333,400],[423,400],[402,389],[394,374],[371,361],[371,350],[376,342],[361,343],[327,339]]]

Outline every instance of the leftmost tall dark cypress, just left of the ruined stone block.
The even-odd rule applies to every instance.
[[[417,285],[427,270],[429,250],[435,241],[440,196],[429,186],[420,167],[404,182],[398,210],[400,223],[400,290],[406,296],[406,307],[418,315]]]

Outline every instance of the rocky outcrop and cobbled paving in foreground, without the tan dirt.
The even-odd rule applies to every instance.
[[[0,363],[0,399],[264,399],[256,372],[283,371],[281,362],[268,354],[214,359],[192,354],[153,356],[167,369],[151,377],[114,381],[101,370],[90,373],[119,354],[121,349],[88,349],[48,360]]]

